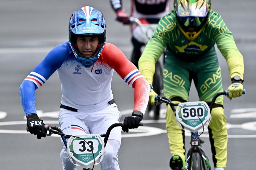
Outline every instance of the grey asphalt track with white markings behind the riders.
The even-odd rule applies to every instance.
[[[172,7],[171,2],[171,8]],[[131,53],[128,26],[115,21],[109,0],[1,0],[0,1],[0,169],[45,170],[62,169],[59,153],[59,137],[38,140],[26,132],[26,121],[20,103],[19,85],[32,69],[56,45],[68,41],[68,20],[73,11],[83,6],[100,10],[107,22],[107,41],[119,47],[128,58]],[[124,1],[126,11],[130,2]],[[244,87],[246,95],[229,101],[224,99],[228,122],[228,170],[255,169],[256,157],[256,106],[255,106],[255,47],[256,47],[256,2],[212,1],[212,9],[222,15],[232,31],[238,49],[244,56]],[[227,64],[219,53],[223,87],[230,80]],[[121,112],[120,120],[131,114],[133,89],[125,85],[115,73],[112,89]],[[46,123],[58,125],[57,113],[61,91],[57,73],[36,91],[36,107]],[[198,100],[194,86],[190,101]],[[170,169],[168,138],[165,130],[164,109],[159,121],[146,113],[144,127],[123,134],[119,151],[119,166],[129,169]],[[137,137],[134,137],[136,136]],[[203,148],[211,157],[208,133],[204,132]],[[189,137],[186,138],[189,148]],[[213,163],[211,161],[211,165]],[[79,169],[79,168],[77,168]],[[95,170],[99,170],[99,166]]]

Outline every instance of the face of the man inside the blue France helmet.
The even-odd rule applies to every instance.
[[[98,36],[93,37],[77,37],[76,44],[81,55],[90,57],[95,54],[99,44]]]

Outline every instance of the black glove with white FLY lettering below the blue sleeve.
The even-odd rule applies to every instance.
[[[43,120],[39,119],[37,114],[30,114],[27,116],[27,126],[31,134],[37,135],[38,139],[45,137],[45,130]]]

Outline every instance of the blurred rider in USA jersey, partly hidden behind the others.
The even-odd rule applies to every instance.
[[[129,18],[138,18],[142,24],[157,24],[166,14],[170,13],[170,0],[131,0],[130,15],[125,12],[122,0],[110,0],[116,12],[117,20],[123,24],[130,24]],[[138,68],[138,61],[141,56],[141,47],[144,46],[143,33],[134,24],[131,24],[133,45],[131,62]]]

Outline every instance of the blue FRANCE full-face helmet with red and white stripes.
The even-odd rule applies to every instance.
[[[99,45],[96,53],[90,57],[80,54],[76,39],[78,36],[98,36]],[[77,58],[86,68],[99,58],[106,41],[106,22],[102,13],[93,7],[85,6],[76,10],[69,20],[69,44]]]

